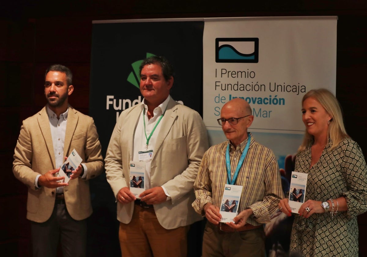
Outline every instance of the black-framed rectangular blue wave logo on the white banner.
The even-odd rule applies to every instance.
[[[257,37],[216,38],[215,62],[259,62],[259,39]]]

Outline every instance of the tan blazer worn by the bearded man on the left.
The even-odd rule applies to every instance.
[[[89,193],[90,178],[101,174],[103,158],[97,129],[91,117],[72,107],[69,108],[66,124],[64,156],[73,149],[83,159],[87,167],[87,178],[70,180],[64,188],[66,208],[75,220],[83,220],[92,214]],[[51,129],[46,107],[40,112],[23,120],[21,132],[15,146],[13,173],[28,187],[27,218],[36,222],[45,222],[50,218],[55,204],[55,188],[34,186],[37,175],[54,170],[55,155]]]

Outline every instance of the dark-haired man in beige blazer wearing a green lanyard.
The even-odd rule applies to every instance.
[[[207,132],[196,111],[170,97],[172,75],[164,57],[142,62],[143,102],[121,113],[107,149],[124,257],[186,256],[188,227],[201,219],[191,203]],[[145,191],[137,197],[130,191],[132,161],[145,163]]]

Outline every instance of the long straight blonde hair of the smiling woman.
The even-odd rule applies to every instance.
[[[317,102],[319,102],[323,106],[325,111],[332,117],[327,130],[327,138],[330,138],[331,149],[333,149],[344,138],[349,137],[344,128],[340,104],[333,93],[325,88],[313,89],[308,91],[302,98],[302,104],[309,97],[312,97]],[[298,152],[304,151],[309,144],[312,144],[313,141],[313,135],[310,135],[306,130],[303,142],[298,148]]]

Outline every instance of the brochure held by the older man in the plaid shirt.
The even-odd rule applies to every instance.
[[[233,222],[237,216],[243,186],[226,184],[224,187],[221,209],[221,222]]]

